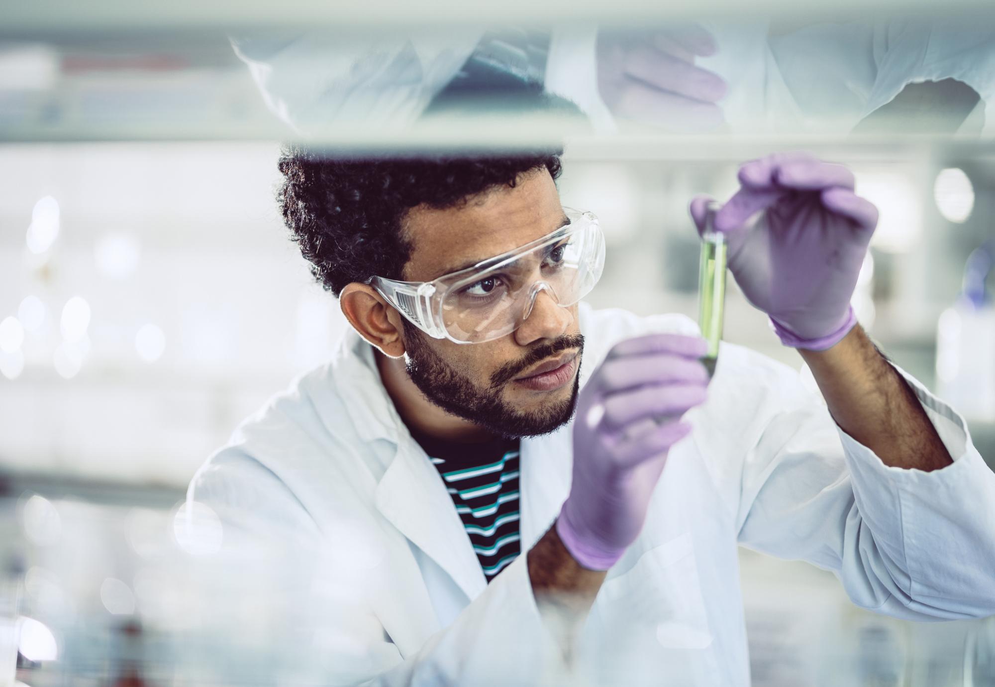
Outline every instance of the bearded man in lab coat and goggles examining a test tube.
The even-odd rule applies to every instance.
[[[855,323],[877,212],[846,167],[748,162],[714,217],[822,398],[731,344],[709,380],[683,316],[580,304],[604,244],[558,154],[280,168],[352,331],[190,498],[333,553],[332,681],[748,684],[737,545],[899,617],[995,612],[995,475]]]

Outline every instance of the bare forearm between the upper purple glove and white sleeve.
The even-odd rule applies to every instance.
[[[952,463],[914,392],[860,326],[828,350],[799,349],[836,423],[889,466]]]

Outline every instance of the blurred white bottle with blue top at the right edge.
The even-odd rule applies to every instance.
[[[974,250],[960,296],[939,317],[936,390],[965,417],[995,420],[995,303],[986,282],[995,244]]]

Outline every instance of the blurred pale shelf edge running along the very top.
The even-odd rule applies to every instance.
[[[377,29],[459,24],[509,24],[600,21],[640,25],[653,20],[700,19],[702,17],[755,18],[776,16],[781,20],[852,19],[881,14],[949,17],[952,14],[995,14],[990,0],[835,0],[832,3],[786,3],[783,0],[506,0],[500,3],[468,3],[462,0],[378,0],[369,3],[315,3],[285,0],[281,3],[238,0],[174,0],[168,3],[125,3],[96,0],[66,3],[47,0],[7,3],[3,34],[136,31],[143,29],[202,29],[217,27],[376,27]]]

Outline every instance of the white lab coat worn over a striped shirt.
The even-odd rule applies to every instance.
[[[580,308],[581,382],[613,343],[697,333],[680,315]],[[723,344],[688,413],[642,534],[609,572],[579,639],[592,684],[747,685],[737,545],[835,572],[855,603],[913,619],[995,613],[995,474],[963,420],[908,378],[954,463],[885,466],[839,429],[791,368]],[[569,425],[521,442],[521,544],[570,482]],[[235,432],[189,498],[226,527],[331,552],[343,608],[327,618],[332,683],[549,684],[562,668],[525,556],[488,585],[435,467],[351,331]],[[570,678],[580,679],[578,675]]]

